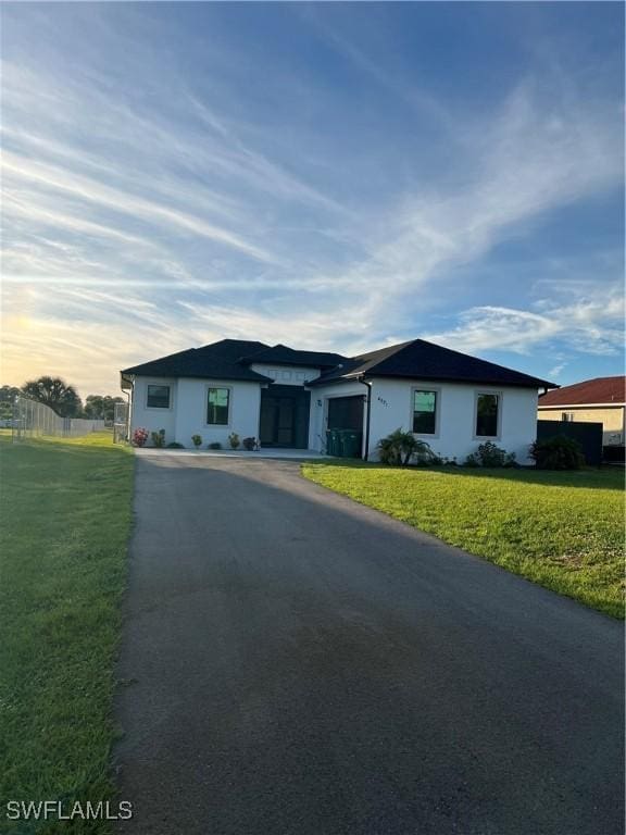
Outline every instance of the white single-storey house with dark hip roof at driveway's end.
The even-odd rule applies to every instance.
[[[399,427],[463,460],[492,440],[527,461],[539,388],[554,384],[414,339],[359,357],[223,339],[122,371],[130,432],[191,446],[228,435],[324,451],[326,431],[362,433],[362,454]]]

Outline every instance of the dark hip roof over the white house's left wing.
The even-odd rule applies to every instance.
[[[240,361],[243,356],[259,353],[267,347],[263,342],[247,339],[222,339],[202,348],[190,348],[187,351],[179,351],[159,360],[124,369],[122,374],[155,377],[209,377],[267,383],[268,377],[256,374]]]

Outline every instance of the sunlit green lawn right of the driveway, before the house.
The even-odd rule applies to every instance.
[[[624,616],[624,471],[311,463],[305,477],[615,618]]]

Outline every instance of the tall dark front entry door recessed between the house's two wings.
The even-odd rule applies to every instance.
[[[261,392],[261,446],[306,449],[311,394],[296,386],[270,386]]]

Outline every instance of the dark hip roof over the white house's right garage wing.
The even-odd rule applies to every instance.
[[[548,383],[424,339],[413,339],[360,354],[345,362],[342,366],[323,374],[310,385],[351,379],[361,374],[370,377],[447,379],[528,388],[554,387],[554,383]]]

